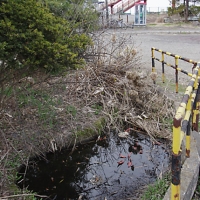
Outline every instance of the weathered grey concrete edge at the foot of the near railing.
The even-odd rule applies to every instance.
[[[181,200],[191,200],[196,189],[199,177],[200,157],[198,153],[199,133],[193,131],[191,134],[190,158],[186,158],[181,169]],[[171,189],[167,190],[163,200],[171,200]]]

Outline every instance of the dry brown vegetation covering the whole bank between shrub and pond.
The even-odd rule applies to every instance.
[[[106,33],[92,37],[94,45],[85,55],[83,69],[45,78],[32,74],[4,95],[1,196],[9,194],[7,187],[13,185],[9,181],[15,177],[9,180],[8,173],[27,164],[30,156],[45,157],[45,152],[73,147],[100,134],[103,127],[117,132],[130,127],[152,140],[171,137],[173,102],[141,70],[137,49],[127,45],[125,37]]]

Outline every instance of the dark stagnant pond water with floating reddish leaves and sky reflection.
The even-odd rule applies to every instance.
[[[46,159],[32,159],[22,166],[17,185],[48,199],[116,200],[135,196],[168,168],[165,144],[155,145],[134,133],[119,138],[111,133],[99,141],[49,153]]]

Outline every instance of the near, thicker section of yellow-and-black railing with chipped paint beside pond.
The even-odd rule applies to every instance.
[[[172,182],[171,199],[180,200],[181,174],[181,143],[186,135],[186,157],[190,157],[190,130],[198,131],[200,108],[200,63],[193,70],[192,79],[188,84],[182,102],[176,111],[173,121],[172,148]]]

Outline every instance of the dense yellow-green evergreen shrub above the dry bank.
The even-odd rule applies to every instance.
[[[70,22],[55,16],[36,0],[0,2],[1,71],[74,68],[91,44],[85,34],[72,34]]]

